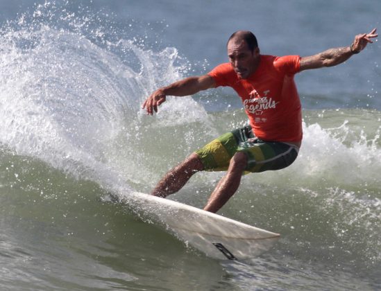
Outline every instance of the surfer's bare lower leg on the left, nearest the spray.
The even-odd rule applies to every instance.
[[[167,197],[170,194],[176,193],[188,182],[194,173],[204,169],[200,158],[196,153],[189,155],[185,161],[180,163],[158,182],[158,185],[153,189],[151,195]]]

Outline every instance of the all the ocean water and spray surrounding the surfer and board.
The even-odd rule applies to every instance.
[[[128,200],[246,122],[229,89],[146,116],[153,90],[226,62],[237,29],[262,53],[312,55],[380,27],[380,12],[376,0],[0,1],[0,290],[380,290],[380,42],[296,76],[298,159],[244,176],[219,211],[280,233],[269,252],[213,260]],[[222,175],[169,199],[202,207]]]

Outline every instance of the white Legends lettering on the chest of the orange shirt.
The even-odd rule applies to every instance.
[[[275,109],[276,105],[279,102],[276,102],[272,98],[269,98],[267,94],[269,94],[270,90],[263,91],[264,96],[260,96],[260,94],[257,92],[257,90],[253,89],[249,93],[250,99],[244,100],[244,107],[246,111],[250,112],[251,114],[255,115],[262,115],[264,110],[268,109]],[[255,122],[260,123],[260,122],[266,122],[266,118],[260,118],[256,117]]]

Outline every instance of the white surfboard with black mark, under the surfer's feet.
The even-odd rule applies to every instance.
[[[193,206],[144,193],[128,193],[133,207],[175,236],[219,259],[244,260],[269,250],[280,237],[278,233],[252,227]]]

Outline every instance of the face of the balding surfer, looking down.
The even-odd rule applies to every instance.
[[[228,42],[229,61],[239,78],[246,79],[251,76],[259,64],[259,55],[259,49],[251,51],[244,39],[239,42],[231,39]]]

